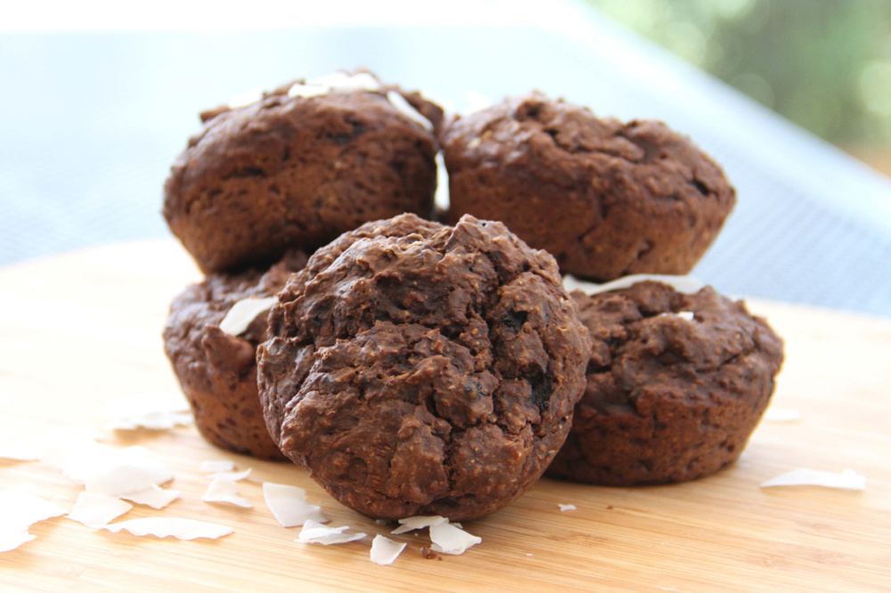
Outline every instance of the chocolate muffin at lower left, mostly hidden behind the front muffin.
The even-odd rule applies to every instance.
[[[266,272],[211,274],[170,306],[164,349],[192,406],[195,425],[217,447],[285,459],[266,431],[255,354],[257,344],[269,337],[266,315],[272,304],[263,299],[274,296],[306,263],[306,254],[290,252]],[[230,313],[238,303],[259,303],[260,310],[255,306],[242,315],[241,327],[231,328]]]

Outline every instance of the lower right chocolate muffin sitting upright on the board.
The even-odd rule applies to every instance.
[[[711,287],[659,282],[587,296],[587,387],[548,475],[610,486],[683,482],[732,463],[755,430],[783,346]]]

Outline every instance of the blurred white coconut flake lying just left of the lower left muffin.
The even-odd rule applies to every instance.
[[[133,394],[111,400],[105,415],[114,418],[107,425],[111,430],[169,430],[192,424],[189,402],[182,394]]]

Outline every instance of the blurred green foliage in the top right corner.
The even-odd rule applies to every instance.
[[[887,0],[588,0],[841,146],[891,145]]]

